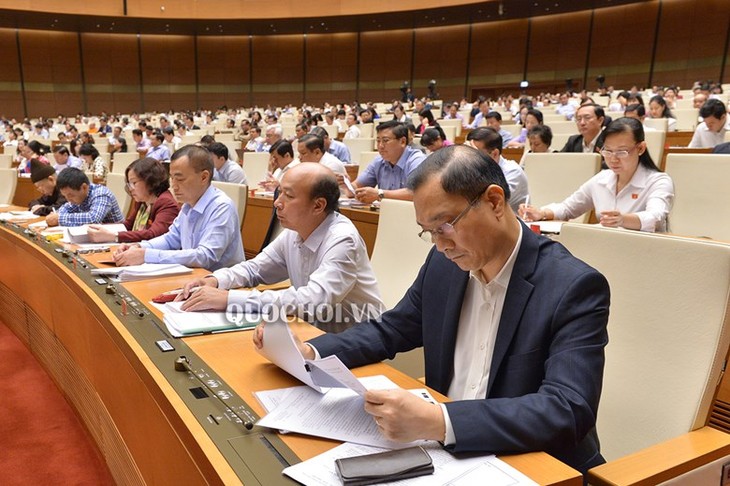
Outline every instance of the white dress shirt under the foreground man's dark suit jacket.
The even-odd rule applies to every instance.
[[[452,400],[477,400],[487,396],[487,384],[492,366],[497,330],[502,318],[504,299],[522,243],[522,225],[517,244],[502,269],[491,282],[485,282],[481,273],[469,272],[464,301],[461,304],[459,328],[454,347],[454,377],[448,397]],[[454,444],[456,437],[446,406],[445,444]]]

